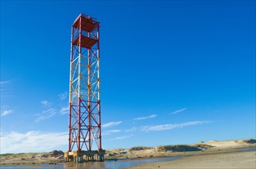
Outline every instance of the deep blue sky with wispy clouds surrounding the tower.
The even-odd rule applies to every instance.
[[[67,151],[69,50],[100,22],[103,148],[255,136],[255,1],[1,1],[1,154]]]

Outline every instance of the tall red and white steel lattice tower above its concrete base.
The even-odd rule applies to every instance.
[[[69,151],[102,151],[99,22],[88,15],[72,25],[69,79]]]

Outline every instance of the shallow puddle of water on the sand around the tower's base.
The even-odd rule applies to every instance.
[[[119,169],[123,167],[133,167],[140,164],[148,164],[153,162],[160,161],[173,161],[180,159],[180,157],[160,157],[160,158],[150,158],[150,159],[140,159],[140,160],[117,160],[110,161],[106,160],[104,162],[86,162],[81,164],[73,164],[73,163],[62,163],[62,164],[36,164],[36,165],[18,165],[18,166],[1,166],[1,168],[11,169],[11,168],[29,168],[29,169],[39,169],[39,168],[52,168],[52,169]]]

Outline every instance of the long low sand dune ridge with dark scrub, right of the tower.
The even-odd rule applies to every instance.
[[[106,158],[148,158],[163,157],[174,154],[184,154],[184,152],[194,151],[221,151],[238,147],[251,147],[256,144],[256,139],[237,141],[200,141],[197,144],[165,145],[158,147],[131,147],[130,149],[113,149],[107,151]]]

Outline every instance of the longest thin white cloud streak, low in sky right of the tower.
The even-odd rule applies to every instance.
[[[184,128],[191,125],[199,125],[199,124],[208,124],[210,121],[190,121],[181,124],[161,124],[155,126],[143,126],[141,131],[164,131],[164,130],[173,130],[175,128]]]

